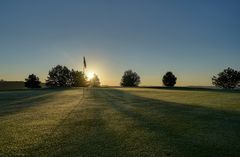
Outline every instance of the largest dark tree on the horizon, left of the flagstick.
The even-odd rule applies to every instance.
[[[73,83],[72,73],[66,66],[57,65],[48,73],[46,86],[71,87]]]

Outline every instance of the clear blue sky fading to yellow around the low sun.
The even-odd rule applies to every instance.
[[[132,69],[141,85],[209,86],[240,69],[239,0],[1,0],[0,79],[45,81],[60,64],[119,85]]]

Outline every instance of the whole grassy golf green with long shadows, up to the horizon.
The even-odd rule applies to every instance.
[[[1,91],[0,156],[239,157],[240,93]]]

